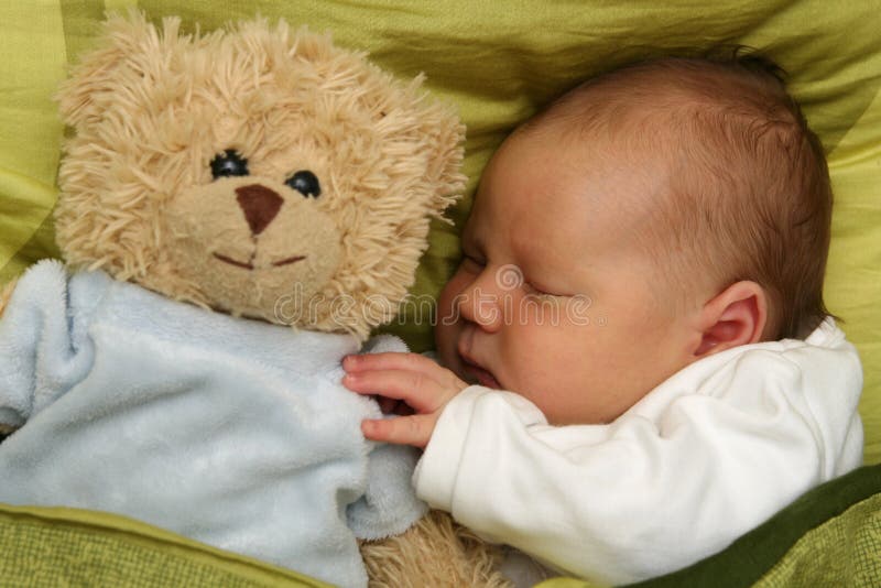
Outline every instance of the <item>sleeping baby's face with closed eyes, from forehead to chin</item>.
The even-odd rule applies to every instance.
[[[439,301],[442,361],[526,396],[557,425],[610,422],[687,363],[682,320],[633,243],[663,174],[592,153],[603,145],[510,138]]]

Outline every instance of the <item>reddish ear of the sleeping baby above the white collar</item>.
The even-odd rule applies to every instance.
[[[755,282],[737,282],[704,305],[699,320],[697,358],[759,342],[768,322],[768,295]]]

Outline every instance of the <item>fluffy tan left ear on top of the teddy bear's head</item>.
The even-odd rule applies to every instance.
[[[164,21],[164,36],[176,36],[180,19]],[[160,34],[142,12],[130,11],[127,17],[108,15],[102,24],[96,48],[83,56],[55,96],[62,121],[80,127],[93,117],[100,117],[101,98],[109,97],[120,85],[121,65],[145,51],[161,51]],[[116,98],[119,99],[118,97]]]

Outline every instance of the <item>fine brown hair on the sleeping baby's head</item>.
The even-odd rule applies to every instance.
[[[742,50],[653,59],[586,81],[530,122],[556,119],[583,138],[612,140],[629,126],[618,134],[639,143],[637,153],[662,153],[667,194],[637,238],[678,284],[701,275],[719,292],[760,284],[769,297],[763,340],[803,337],[829,315],[829,173],[784,76]]]

